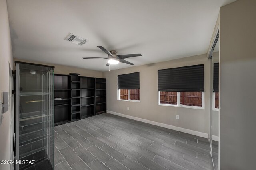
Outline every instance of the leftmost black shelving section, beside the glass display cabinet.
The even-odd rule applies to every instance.
[[[70,75],[54,74],[54,126],[71,122],[70,78]]]

